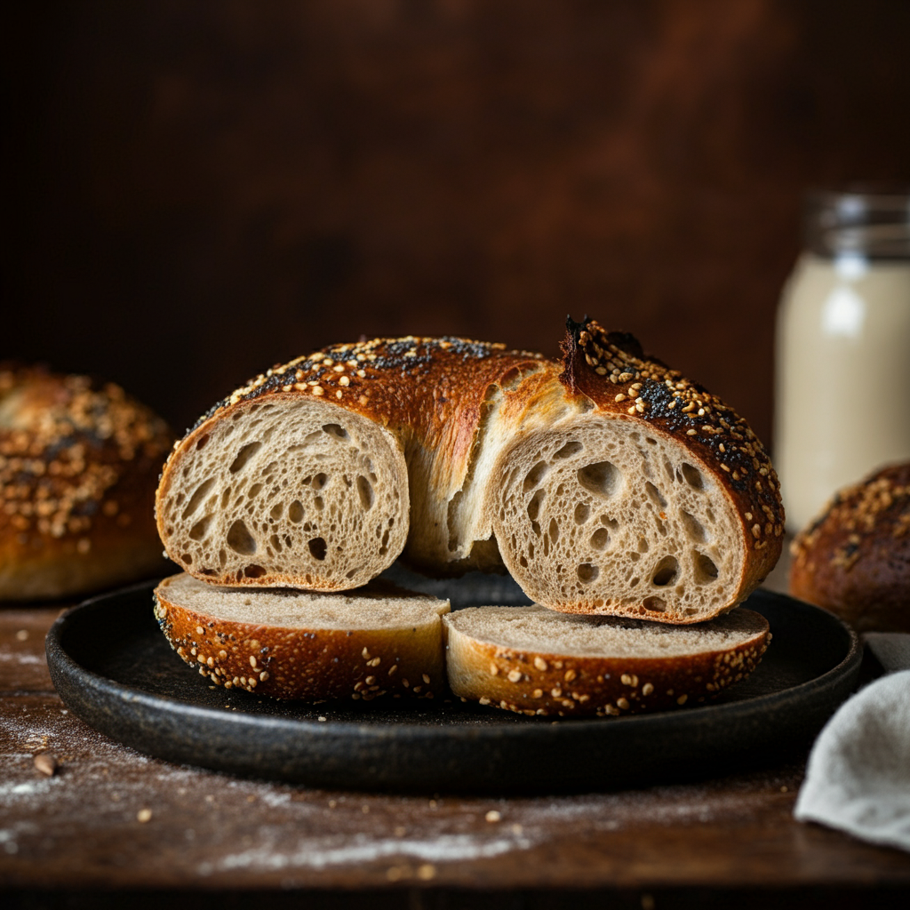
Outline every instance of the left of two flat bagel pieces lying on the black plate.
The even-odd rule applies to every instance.
[[[448,601],[385,581],[325,594],[218,588],[181,574],[155,590],[162,632],[201,675],[308,702],[440,695],[446,612]]]

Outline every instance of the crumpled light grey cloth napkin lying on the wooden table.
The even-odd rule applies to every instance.
[[[868,632],[864,642],[886,675],[815,740],[794,816],[910,851],[910,634]]]

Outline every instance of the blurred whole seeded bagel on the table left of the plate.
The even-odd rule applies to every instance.
[[[163,571],[153,505],[172,439],[116,385],[0,366],[0,600]]]

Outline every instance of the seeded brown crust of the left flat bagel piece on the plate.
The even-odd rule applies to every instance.
[[[161,631],[187,664],[226,689],[308,702],[432,699],[445,689],[439,622],[408,632],[236,622],[177,604],[167,588],[165,579],[155,590]]]

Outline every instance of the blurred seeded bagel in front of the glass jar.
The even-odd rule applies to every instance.
[[[857,632],[910,632],[910,461],[841,490],[792,552],[794,597]]]

